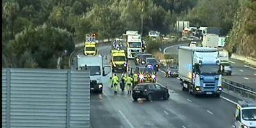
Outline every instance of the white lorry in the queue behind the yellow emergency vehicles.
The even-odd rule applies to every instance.
[[[143,42],[141,35],[138,35],[138,31],[126,31],[123,39],[126,42],[128,59],[133,59],[137,52],[142,52]]]

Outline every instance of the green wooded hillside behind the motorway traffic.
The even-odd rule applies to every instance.
[[[191,26],[223,28],[233,26],[238,0],[12,0],[2,1],[3,67],[56,68],[68,66],[74,44],[87,33],[98,39],[119,37],[127,30],[143,35],[160,31],[174,35],[177,20],[190,20]],[[170,34],[171,33],[171,34]],[[154,49],[157,45],[152,43]],[[153,49],[153,51],[154,51]],[[63,52],[67,54],[63,55]],[[156,52],[156,51],[154,51]]]

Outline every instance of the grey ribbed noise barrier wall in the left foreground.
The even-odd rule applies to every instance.
[[[2,127],[90,127],[90,71],[2,68]]]

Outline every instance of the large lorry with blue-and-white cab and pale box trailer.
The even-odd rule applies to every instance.
[[[210,47],[179,47],[179,79],[182,90],[193,95],[220,97],[221,67],[218,49]]]

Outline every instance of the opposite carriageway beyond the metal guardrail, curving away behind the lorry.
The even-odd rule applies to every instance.
[[[178,47],[179,45],[167,47],[165,53],[178,55]],[[256,89],[256,68],[243,61],[231,58],[229,61],[232,65],[232,76],[224,76],[224,78]]]

